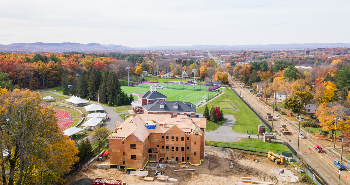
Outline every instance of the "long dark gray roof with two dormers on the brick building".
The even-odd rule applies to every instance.
[[[164,109],[160,108],[160,105],[165,103]],[[174,104],[178,103],[177,109],[174,109]],[[160,101],[156,100],[148,105],[142,106],[145,110],[148,112],[195,112],[196,111],[196,105],[192,104],[190,102],[181,102],[181,101]]]

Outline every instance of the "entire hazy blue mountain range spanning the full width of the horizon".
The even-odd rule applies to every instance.
[[[305,50],[323,47],[350,47],[349,43],[305,43],[305,44],[267,44],[267,45],[193,45],[193,46],[148,46],[127,47],[114,44],[80,43],[13,43],[0,44],[2,52],[113,52],[121,50]]]

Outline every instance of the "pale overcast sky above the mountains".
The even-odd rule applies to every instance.
[[[0,44],[350,43],[349,0],[9,0]]]

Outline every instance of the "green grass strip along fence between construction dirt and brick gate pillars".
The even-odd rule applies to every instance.
[[[238,142],[223,142],[223,143],[290,152],[290,150],[283,144],[280,144],[278,142],[272,142],[272,143],[264,142],[262,139],[241,138]]]

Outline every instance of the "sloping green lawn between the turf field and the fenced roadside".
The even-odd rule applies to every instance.
[[[232,116],[235,117],[236,123],[232,127],[233,131],[239,133],[245,133],[245,131],[248,131],[248,133],[258,134],[258,125],[263,124],[262,121],[255,116],[254,112],[251,111],[231,89],[225,88],[225,94],[209,102],[208,108],[210,109],[212,105],[222,105],[223,108],[226,108],[228,104],[222,102],[223,100],[231,102],[238,109],[237,111],[233,111],[235,109],[222,109],[224,114],[232,114]],[[197,109],[197,112],[203,113],[204,108],[205,106]]]

